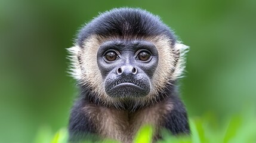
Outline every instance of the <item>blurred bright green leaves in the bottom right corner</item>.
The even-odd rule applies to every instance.
[[[214,116],[206,115],[190,119],[192,135],[170,136],[164,132],[164,142],[256,142],[256,122],[254,114],[239,114],[231,117],[225,123],[217,122]]]

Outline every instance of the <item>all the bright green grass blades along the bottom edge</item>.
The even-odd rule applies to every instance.
[[[166,130],[162,131],[163,139],[159,143],[205,143],[205,142],[256,142],[256,116],[255,114],[239,114],[232,116],[224,123],[217,121],[212,114],[190,119],[191,136],[171,136]],[[138,130],[134,142],[152,142],[153,128],[145,125]],[[58,130],[55,135],[49,128],[41,128],[36,135],[35,143],[67,143],[68,133],[66,128]],[[90,141],[88,141],[90,142]],[[117,142],[104,140],[103,142]]]

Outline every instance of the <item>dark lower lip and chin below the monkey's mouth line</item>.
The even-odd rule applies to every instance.
[[[133,83],[120,83],[106,90],[107,95],[113,98],[145,97],[149,92],[148,88],[141,88]]]

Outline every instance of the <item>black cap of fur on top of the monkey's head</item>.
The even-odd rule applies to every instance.
[[[79,31],[76,43],[82,47],[91,35],[121,39],[165,35],[171,44],[176,41],[172,30],[158,16],[138,8],[115,8],[98,15]]]

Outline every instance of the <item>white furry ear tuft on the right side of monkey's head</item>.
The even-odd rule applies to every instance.
[[[183,72],[186,67],[186,54],[189,52],[189,46],[184,45],[181,41],[177,41],[174,45],[174,51],[178,53],[178,61],[172,76],[174,79],[178,79],[184,77]]]

